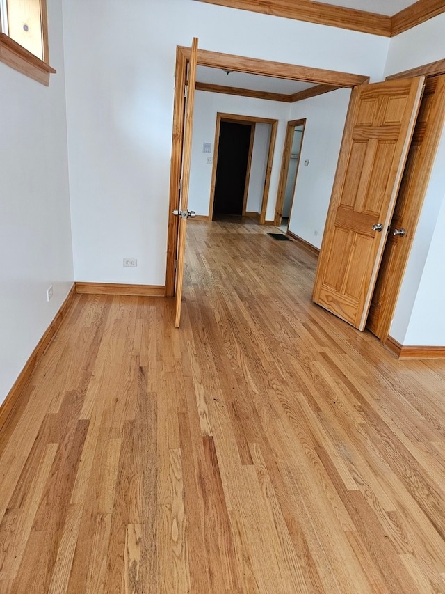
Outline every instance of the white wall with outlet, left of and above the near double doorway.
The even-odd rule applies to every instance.
[[[63,6],[74,269],[83,281],[165,281],[177,45],[197,36],[202,49],[373,79],[389,46],[387,38],[193,0]],[[138,268],[123,268],[126,256]]]

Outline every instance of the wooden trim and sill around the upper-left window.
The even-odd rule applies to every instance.
[[[5,2],[1,1],[1,5]],[[4,13],[3,13],[4,14]],[[49,65],[48,13],[46,0],[40,0],[40,19],[42,22],[42,47],[44,61],[29,52],[6,33],[1,33],[0,26],[0,62],[14,68],[23,75],[49,86],[49,75],[56,70]]]

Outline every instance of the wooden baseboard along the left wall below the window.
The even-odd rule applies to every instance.
[[[19,377],[15,380],[13,387],[8,392],[6,399],[0,406],[0,430],[3,425],[6,423],[8,416],[10,416],[11,412],[13,411],[15,405],[19,401],[20,396],[22,395],[24,388],[28,384],[33,371],[35,370],[35,366],[37,366],[38,362],[42,358],[45,350],[51,343],[52,339],[54,338],[56,332],[58,331],[60,324],[65,320],[67,313],[70,311],[72,304],[74,303],[74,299],[76,299],[76,286],[73,284],[70,292],[68,293],[65,301],[60,306],[58,312],[54,316],[51,324],[44,332],[40,341],[38,341],[35,349],[31,353],[28,361],[24,365],[24,368],[20,372]]]

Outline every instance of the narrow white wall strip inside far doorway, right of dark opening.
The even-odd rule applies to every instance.
[[[271,124],[257,123],[255,125],[252,164],[250,166],[248,201],[245,209],[247,212],[261,212],[271,132]]]

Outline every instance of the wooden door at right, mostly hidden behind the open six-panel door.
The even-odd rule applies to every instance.
[[[366,328],[385,342],[445,120],[445,75],[428,77]],[[403,235],[394,235],[398,230]]]

